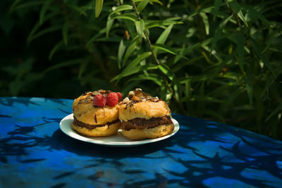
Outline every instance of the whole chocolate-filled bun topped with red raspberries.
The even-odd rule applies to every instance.
[[[109,90],[85,92],[73,102],[73,130],[90,137],[116,134],[121,127],[118,102],[121,93]]]

